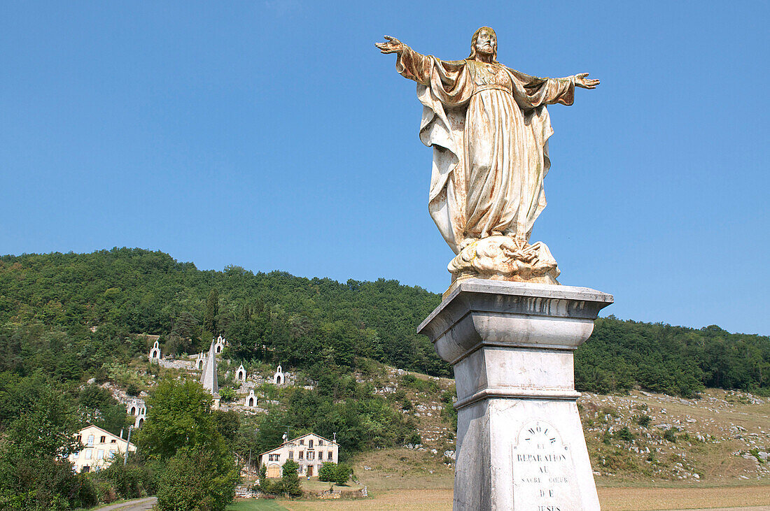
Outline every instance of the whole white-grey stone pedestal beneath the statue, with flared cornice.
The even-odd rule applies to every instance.
[[[467,279],[423,321],[457,384],[454,509],[599,509],[573,352],[612,301],[587,287]]]

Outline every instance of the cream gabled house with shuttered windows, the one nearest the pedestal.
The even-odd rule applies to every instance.
[[[259,463],[267,467],[268,477],[280,477],[286,460],[293,460],[300,466],[300,477],[317,477],[323,463],[338,463],[339,459],[340,446],[336,441],[316,433],[297,436],[259,455]]]

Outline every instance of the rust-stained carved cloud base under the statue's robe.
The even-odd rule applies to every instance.
[[[471,277],[559,284],[559,268],[546,244],[521,247],[509,236],[489,236],[464,247],[447,267],[454,280]]]

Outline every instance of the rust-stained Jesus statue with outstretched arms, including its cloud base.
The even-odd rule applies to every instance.
[[[485,277],[557,284],[545,244],[529,244],[545,207],[543,178],[553,129],[545,105],[572,105],[575,87],[596,88],[588,73],[537,78],[497,61],[497,35],[479,28],[470,55],[442,61],[385,36],[382,53],[417,81],[423,104],[420,140],[434,148],[429,210],[458,254],[454,278]]]

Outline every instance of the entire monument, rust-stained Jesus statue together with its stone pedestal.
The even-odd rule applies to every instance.
[[[559,285],[551,251],[530,242],[551,167],[547,105],[572,105],[599,81],[508,68],[489,27],[462,60],[385,38],[377,48],[417,82],[420,141],[434,150],[428,209],[456,254],[453,284],[419,328],[454,367],[454,509],[599,509],[573,353],[613,299]]]

